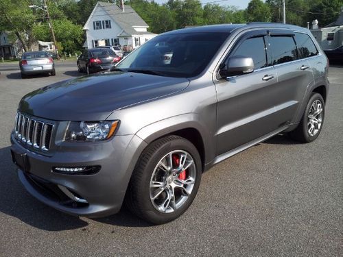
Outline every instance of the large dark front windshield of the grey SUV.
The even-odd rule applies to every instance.
[[[151,71],[171,77],[193,77],[204,70],[227,37],[228,33],[224,32],[156,36],[115,68],[123,71]]]

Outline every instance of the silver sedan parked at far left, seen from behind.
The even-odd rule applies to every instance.
[[[23,53],[19,62],[21,77],[37,73],[47,73],[52,76],[56,75],[54,59],[45,51],[32,51]]]

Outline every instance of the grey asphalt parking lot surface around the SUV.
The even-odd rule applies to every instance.
[[[275,136],[217,164],[185,215],[158,226],[125,209],[72,217],[29,195],[10,157],[19,100],[80,73],[62,61],[56,76],[21,79],[18,64],[0,72],[0,256],[342,256],[343,66],[330,68],[314,143]]]

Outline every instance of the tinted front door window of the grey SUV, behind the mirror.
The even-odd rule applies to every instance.
[[[264,39],[262,36],[244,40],[230,56],[246,56],[252,58],[252,60],[254,60],[255,69],[268,66],[265,55]]]

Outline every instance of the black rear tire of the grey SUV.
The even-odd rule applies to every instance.
[[[310,123],[310,112],[311,111],[311,107],[312,105],[314,105],[314,103],[319,103],[318,101],[320,101],[321,105],[322,105],[322,115],[320,117],[320,127],[317,126],[318,130],[316,130],[316,133],[311,133],[309,132],[309,126],[311,126]],[[312,93],[311,97],[309,98],[309,101],[307,103],[307,106],[305,108],[305,112],[303,114],[303,117],[300,120],[300,123],[298,124],[298,126],[296,127],[295,130],[293,130],[292,132],[289,132],[289,136],[291,138],[293,138],[294,140],[297,140],[301,143],[310,143],[312,141],[314,141],[316,138],[318,138],[320,132],[322,131],[322,125],[324,123],[324,114],[325,114],[325,103],[324,103],[324,99],[322,98],[322,95],[318,94],[318,93]],[[317,117],[319,117],[317,115]]]

